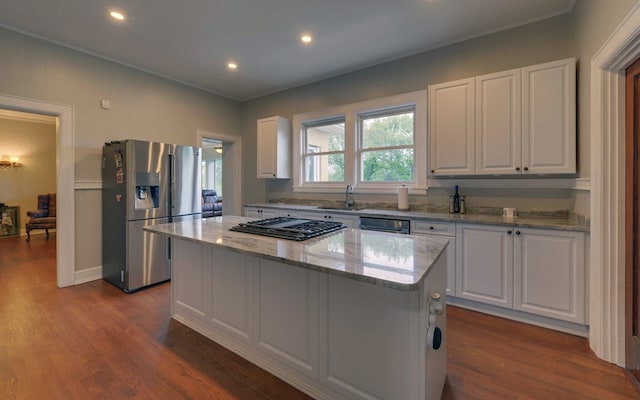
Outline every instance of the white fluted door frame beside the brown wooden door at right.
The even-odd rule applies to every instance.
[[[591,59],[589,345],[625,366],[625,70],[640,58],[640,3]]]

